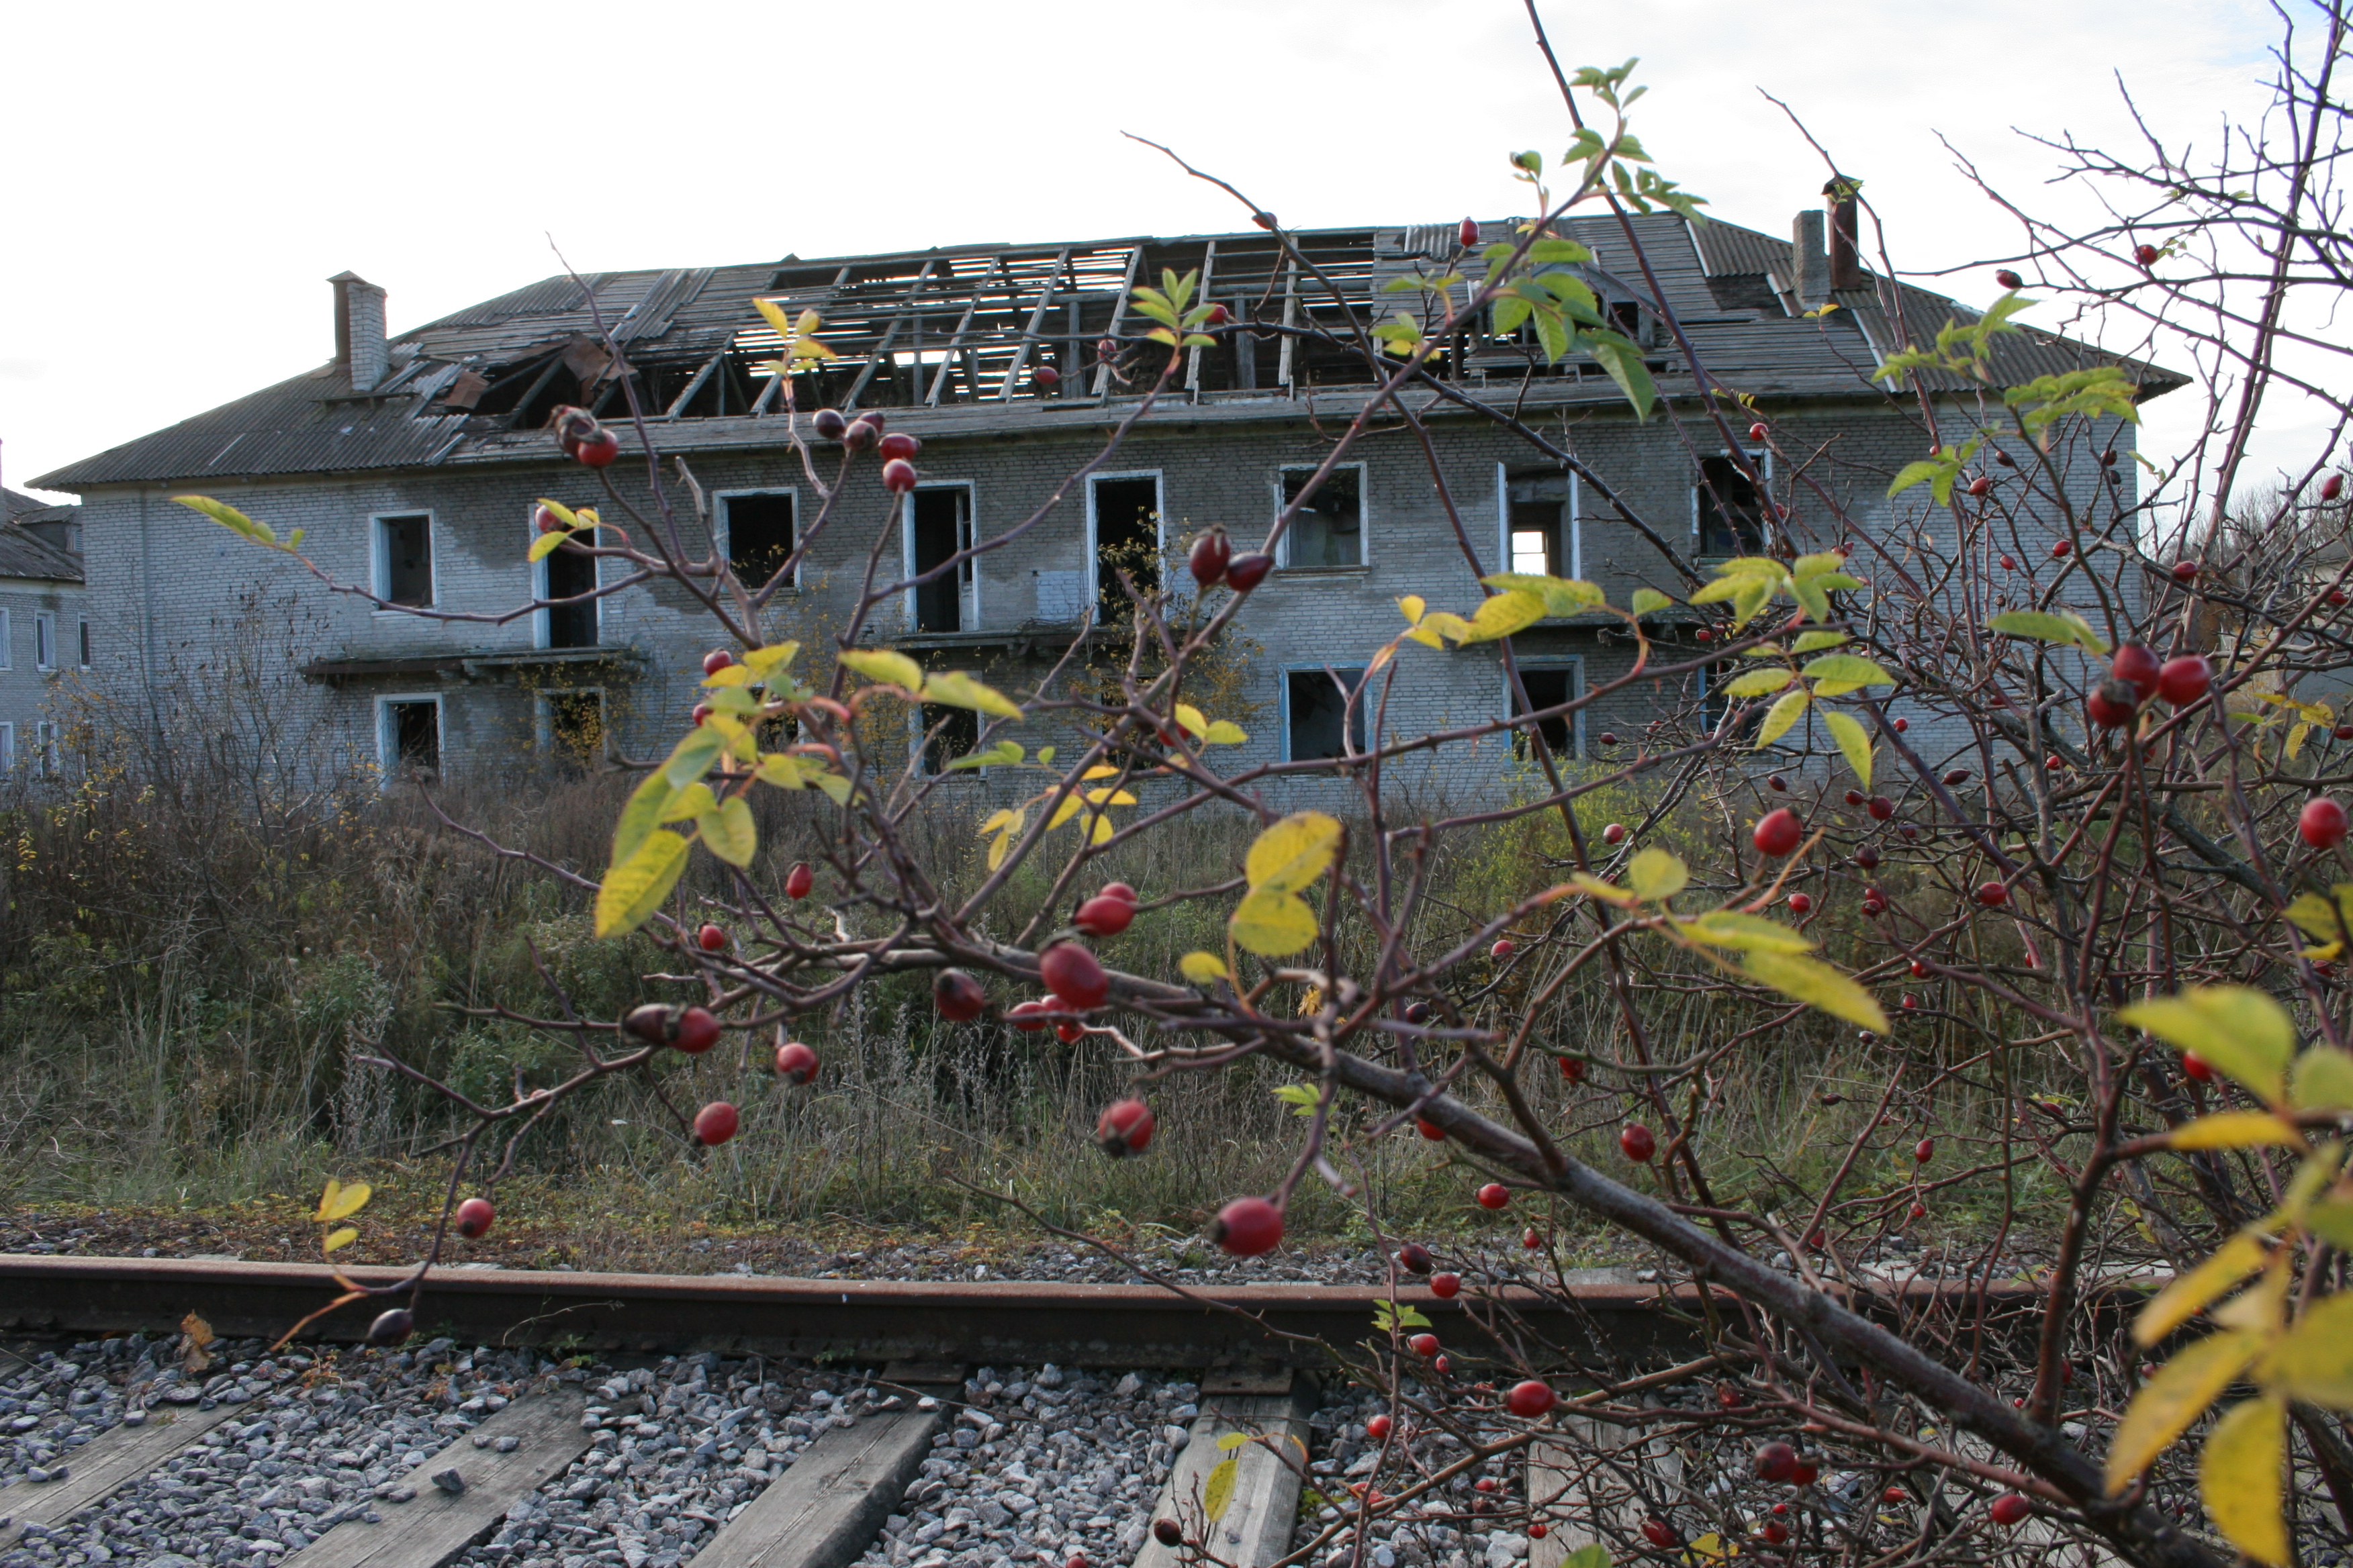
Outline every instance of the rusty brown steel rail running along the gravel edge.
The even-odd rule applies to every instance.
[[[400,1269],[344,1269],[391,1284]],[[0,1333],[174,1333],[186,1314],[228,1338],[278,1338],[334,1300],[318,1262],[212,1262],[186,1258],[45,1258],[0,1253]],[[875,1281],[736,1274],[572,1274],[555,1269],[435,1269],[416,1312],[426,1335],[473,1345],[544,1345],[624,1354],[718,1349],[769,1356],[906,1361],[1066,1361],[1127,1366],[1315,1366],[1322,1345],[1372,1333],[1381,1286],[1188,1286],[1148,1284]],[[2033,1314],[2040,1293],[1918,1284],[1906,1309]],[[405,1302],[407,1298],[398,1298]],[[2134,1295],[2137,1300],[2137,1295]],[[1574,1284],[1567,1300],[1511,1288],[1497,1300],[1440,1300],[1400,1288],[1454,1354],[1515,1352],[1558,1359],[1605,1340],[1621,1356],[1689,1354],[1701,1302],[1692,1286]],[[1732,1307],[1729,1295],[1718,1295]],[[344,1307],[306,1340],[353,1342],[391,1298]],[[1857,1302],[1864,1305],[1864,1302]],[[1887,1295],[1878,1305],[1894,1305]]]

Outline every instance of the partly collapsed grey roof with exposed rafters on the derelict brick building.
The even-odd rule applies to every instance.
[[[1871,371],[1904,339],[1925,343],[1946,320],[1972,320],[1948,299],[1908,284],[1882,289],[1871,277],[1831,292],[1840,308],[1812,317],[1793,294],[1788,240],[1673,214],[1638,216],[1633,226],[1701,362],[1739,393],[1878,395]],[[1640,266],[1617,221],[1569,219],[1558,228],[1593,252],[1586,280],[1652,348],[1661,390],[1689,393],[1680,357],[1642,310],[1649,289],[1638,282]],[[1513,233],[1511,221],[1482,226],[1485,242]],[[767,369],[779,339],[755,299],[821,317],[816,336],[833,357],[793,376],[800,409],[911,409],[918,414],[901,423],[922,435],[1085,423],[1089,409],[1111,414],[1106,404],[1141,395],[1162,364],[1144,341],[1148,322],[1127,310],[1129,289],[1158,282],[1162,270],[1198,273],[1200,296],[1235,317],[1217,348],[1188,350],[1169,411],[1266,418],[1362,397],[1372,371],[1346,341],[1351,315],[1369,324],[1400,306],[1435,313],[1435,301],[1388,284],[1461,259],[1454,223],[1304,230],[1292,244],[1306,268],[1275,235],[1247,230],[565,275],[388,343],[381,289],[346,273],[334,280],[346,310],[344,357],[68,463],[38,484],[82,491],[548,456],[541,430],[558,404],[586,404],[626,423],[631,400],[661,425],[664,449],[772,447],[786,400],[784,381]],[[379,322],[365,350],[351,343],[355,327],[362,336],[367,327],[341,303],[353,294],[374,301]],[[2033,329],[1998,339],[1993,369],[2017,383],[2101,362],[2127,367],[2144,397],[2181,386],[2172,371]],[[1584,355],[1546,364],[1525,327],[1508,336],[1457,334],[1431,371],[1473,393],[1508,390],[1522,409],[1619,400],[1602,367]]]

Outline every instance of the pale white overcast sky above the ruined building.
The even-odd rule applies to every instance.
[[[2160,127],[2209,139],[2261,106],[2273,42],[2249,0],[1544,12],[1567,66],[1642,56],[1635,129],[1659,165],[1779,235],[1824,181],[1758,89],[1786,99],[1906,268],[2017,244],[1937,132],[2064,202],[2014,127],[2129,146],[2122,73]],[[391,289],[398,331],[558,273],[551,242],[598,270],[1242,226],[1122,129],[1294,226],[1522,212],[1506,153],[1567,141],[1515,0],[82,0],[12,12],[7,42],[16,487],[327,360],[344,268]],[[1941,287],[1995,294],[1984,270]],[[2151,447],[2179,440],[2165,402]],[[2268,440],[2308,461],[2292,425]]]

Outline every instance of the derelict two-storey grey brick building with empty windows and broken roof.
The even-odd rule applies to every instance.
[[[1715,428],[1692,416],[1692,378],[1645,306],[1642,266],[1617,223],[1572,221],[1567,230],[1593,249],[1588,280],[1652,348],[1652,371],[1680,414],[1635,421],[1600,364],[1581,355],[1546,364],[1525,329],[1457,336],[1433,362],[1435,376],[1464,397],[1508,407],[1572,451],[1692,559],[1784,543],[1769,538],[1781,524],[1720,449]],[[1511,233],[1499,221],[1482,237]],[[1922,437],[1918,409],[1889,400],[1871,374],[1899,341],[1889,301],[1901,301],[1913,339],[1932,336],[1958,306],[1908,287],[1882,296],[1852,249],[1826,252],[1821,212],[1800,214],[1793,240],[1729,223],[1692,226],[1673,214],[1635,219],[1635,233],[1713,374],[1755,395],[1784,451],[1821,454],[1812,484],[1868,520],[1885,520],[1892,505],[1925,510],[1925,489],[1899,503],[1882,498],[1887,477],[1920,456]],[[1414,299],[1386,292],[1393,277],[1459,259],[1454,223],[1301,233],[1297,244],[1360,320]],[[1247,548],[1362,407],[1372,374],[1341,341],[1344,308],[1285,259],[1273,235],[976,244],[551,277],[398,336],[386,334],[384,289],[346,273],[332,280],[329,364],[38,484],[82,498],[108,679],[155,679],[169,649],[226,635],[256,602],[301,597],[320,630],[292,658],[325,733],[351,759],[454,773],[475,762],[513,766],[529,748],[609,743],[647,755],[685,724],[696,661],[713,637],[682,592],[631,585],[506,623],[416,621],[329,597],[285,557],[169,498],[209,494],[280,534],[301,527],[304,550],[320,567],[395,604],[499,614],[532,597],[579,595],[595,585],[598,562],[569,552],[536,567],[525,559],[539,496],[598,501],[595,477],[558,454],[546,423],[558,404],[600,409],[626,454],[609,473],[642,498],[647,470],[621,418],[626,381],[652,416],[656,447],[682,458],[711,496],[711,543],[758,574],[762,559],[788,552],[812,494],[784,437],[781,381],[762,369],[776,336],[753,299],[791,313],[816,308],[838,357],[795,383],[800,411],[880,407],[894,430],[925,442],[922,482],[896,512],[866,463],[845,491],[842,522],[812,550],[798,585],[779,595],[765,632],[821,649],[854,599],[885,520],[892,538],[882,571],[901,562],[925,569],[1026,517],[1099,449],[1148,381],[1136,371],[1144,341],[1129,289],[1162,268],[1198,270],[1205,296],[1228,306],[1235,327],[1217,348],[1186,355],[1160,407],[1042,527],[981,555],[953,581],[906,592],[896,618],[873,628],[878,642],[932,665],[1026,686],[1024,675],[1080,635],[1089,607],[1115,597],[1106,559],[1146,578],[1167,574],[1181,541],[1207,524],[1224,524]],[[1824,303],[1838,308],[1824,313]],[[1332,341],[1297,334],[1318,327]],[[619,362],[602,346],[605,329]],[[1101,339],[1125,346],[1111,364],[1101,362]],[[2094,357],[2033,331],[2000,343],[2005,381]],[[2144,395],[2167,383],[2144,378]],[[1685,590],[1657,545],[1558,458],[1428,388],[1414,402],[1489,571],[1591,578],[1617,604],[1640,585]],[[1821,508],[1805,496],[1791,505],[1791,477],[1774,473],[1765,454],[1758,463],[1781,515],[1793,520],[1793,543],[1833,543],[1807,522]],[[682,498],[678,470],[664,473]],[[2082,475],[2087,494],[2094,477]],[[1400,595],[1471,609],[1478,588],[1417,440],[1384,418],[1313,512],[1299,517],[1240,623],[1247,656],[1233,661],[1228,696],[1247,715],[1252,741],[1221,759],[1247,766],[1360,741],[1362,712],[1358,733],[1341,733],[1334,675],[1355,679],[1367,654],[1398,630]],[[1125,614],[1113,607],[1108,618]],[[1673,625],[1664,635],[1673,639]],[[1513,646],[1537,703],[1560,701],[1631,658],[1631,642],[1591,616],[1539,623]],[[1602,731],[1640,731],[1699,696],[1699,684],[1628,686],[1579,724],[1555,726],[1553,743],[1591,755]],[[1468,724],[1501,715],[1506,703],[1494,646],[1407,646],[1386,729]],[[1440,766],[1447,778],[1475,783],[1511,778],[1525,762],[1513,745],[1487,738],[1452,748]]]

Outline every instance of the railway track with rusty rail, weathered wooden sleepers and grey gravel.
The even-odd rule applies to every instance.
[[[369,1302],[264,1354],[332,1293],[320,1265],[0,1255],[26,1345],[0,1361],[0,1568],[1176,1568],[1160,1519],[1264,1568],[1346,1523],[1372,1408],[1315,1373],[1384,1295],[440,1269],[419,1349],[346,1349]],[[1466,1366],[1506,1349],[1468,1298],[1398,1298]],[[1657,1286],[1506,1300],[1506,1335],[1692,1349]],[[191,1314],[224,1354],[195,1373]],[[1489,1481],[1417,1526],[1421,1561],[1529,1568],[1527,1476]],[[1537,1559],[1572,1542],[1555,1523]]]

